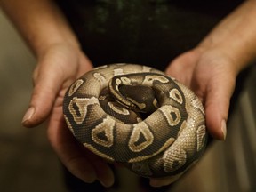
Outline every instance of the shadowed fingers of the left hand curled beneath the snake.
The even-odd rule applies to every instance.
[[[52,111],[48,128],[52,148],[60,156],[61,162],[69,172],[84,182],[92,183],[98,179],[104,187],[112,186],[115,181],[112,169],[99,156],[92,154],[78,143],[64,123],[60,115],[61,111],[61,107]]]

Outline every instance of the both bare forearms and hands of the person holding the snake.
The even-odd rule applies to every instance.
[[[34,90],[22,124],[35,127],[47,120],[52,148],[68,170],[84,182],[100,180],[103,186],[111,186],[115,177],[108,164],[77,143],[63,120],[62,100],[68,85],[93,68],[74,32],[51,0],[0,0],[0,4],[38,61]],[[195,49],[172,60],[165,71],[188,85],[203,101],[207,129],[218,140],[226,138],[236,76],[256,56],[255,18],[256,1],[245,1]],[[150,179],[154,187],[171,182],[170,178]]]

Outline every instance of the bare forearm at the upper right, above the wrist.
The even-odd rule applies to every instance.
[[[220,22],[200,44],[229,55],[237,73],[256,57],[256,1],[247,0]]]

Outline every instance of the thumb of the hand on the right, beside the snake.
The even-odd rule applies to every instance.
[[[225,79],[215,78],[207,87],[204,103],[206,125],[210,134],[218,140],[226,139],[228,108],[234,87],[234,79],[228,76]]]

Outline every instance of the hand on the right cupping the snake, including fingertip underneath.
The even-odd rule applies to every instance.
[[[202,100],[206,127],[213,138],[225,140],[229,100],[238,73],[232,58],[218,49],[185,52],[166,68],[166,74],[187,85]],[[150,179],[150,185],[169,185],[172,177]]]

